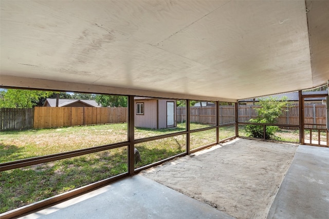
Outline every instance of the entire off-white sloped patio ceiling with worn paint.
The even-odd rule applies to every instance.
[[[204,99],[312,88],[329,79],[328,11],[329,1],[2,0],[1,85]]]

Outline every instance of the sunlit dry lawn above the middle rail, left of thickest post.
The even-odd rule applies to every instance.
[[[127,140],[127,124],[33,129],[0,133],[0,162],[9,162]]]

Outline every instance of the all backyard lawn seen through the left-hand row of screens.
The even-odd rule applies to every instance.
[[[209,125],[191,124],[191,129]],[[185,131],[177,128],[135,128],[135,138]],[[222,127],[224,139],[234,127]],[[78,126],[0,133],[0,162],[106,145],[127,140],[127,124]],[[215,129],[191,134],[191,149],[215,142]],[[142,167],[186,151],[186,135],[136,144]],[[121,147],[60,161],[0,172],[0,213],[44,200],[63,192],[127,172],[127,147]]]

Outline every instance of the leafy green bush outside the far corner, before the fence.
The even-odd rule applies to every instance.
[[[277,97],[270,96],[266,99],[260,99],[259,105],[261,106],[258,109],[255,109],[257,112],[257,118],[249,120],[250,123],[270,123],[275,124],[278,117],[282,114],[284,107],[291,106],[291,103],[288,102],[286,96],[278,100]],[[277,126],[266,126],[266,135],[265,139],[276,139],[276,131],[279,130]],[[263,126],[261,125],[247,125],[246,131],[249,136],[263,138],[264,131]]]

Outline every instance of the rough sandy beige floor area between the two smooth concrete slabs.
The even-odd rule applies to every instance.
[[[297,147],[239,139],[141,174],[236,218],[265,218]]]

